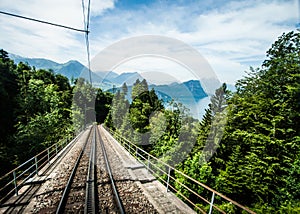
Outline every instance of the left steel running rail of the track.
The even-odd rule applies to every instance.
[[[74,180],[77,168],[79,166],[81,157],[83,156],[84,150],[85,150],[86,145],[87,145],[87,143],[89,141],[91,132],[92,132],[92,128],[89,131],[89,134],[88,134],[88,136],[86,138],[86,141],[85,141],[85,143],[84,143],[84,145],[83,145],[83,147],[81,149],[81,152],[80,152],[80,154],[79,154],[79,156],[78,156],[78,158],[77,158],[77,160],[75,162],[75,165],[74,165],[74,167],[72,169],[72,172],[71,172],[71,174],[69,176],[69,180],[67,182],[67,185],[66,185],[66,187],[64,189],[64,192],[62,194],[62,197],[61,197],[61,199],[59,201],[59,204],[58,204],[58,207],[56,209],[56,214],[62,214],[62,213],[64,213],[65,206],[66,206],[66,203],[67,203],[67,199],[68,199],[68,196],[69,196],[69,193],[70,193],[70,190],[71,190],[71,186],[72,186],[72,183],[73,183],[73,180]]]

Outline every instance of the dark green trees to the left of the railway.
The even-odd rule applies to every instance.
[[[42,150],[96,121],[104,122],[112,95],[85,79],[16,65],[0,50],[0,177]],[[95,110],[97,113],[95,114]]]

